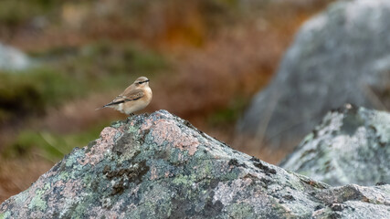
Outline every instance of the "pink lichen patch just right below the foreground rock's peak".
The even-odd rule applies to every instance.
[[[162,145],[165,141],[169,145],[179,148],[181,151],[188,151],[189,155],[194,155],[199,141],[194,137],[196,135],[194,130],[184,129],[182,131],[173,120],[156,120],[147,122],[142,125],[141,130],[152,129],[152,136],[154,142]]]

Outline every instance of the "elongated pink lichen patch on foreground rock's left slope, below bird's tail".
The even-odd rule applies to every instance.
[[[96,144],[90,148],[90,151],[85,154],[82,159],[78,159],[79,164],[96,165],[104,158],[106,151],[110,151],[114,145],[114,137],[118,130],[112,127],[106,127],[100,133],[100,139],[96,141]]]

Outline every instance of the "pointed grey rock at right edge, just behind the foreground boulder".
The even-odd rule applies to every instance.
[[[390,183],[390,114],[332,111],[280,166],[332,185]]]

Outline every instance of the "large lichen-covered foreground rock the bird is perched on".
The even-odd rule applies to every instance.
[[[0,218],[385,218],[390,185],[332,188],[232,150],[160,110],[101,131]]]

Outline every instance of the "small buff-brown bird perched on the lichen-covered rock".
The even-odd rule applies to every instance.
[[[133,115],[133,112],[142,110],[148,106],[152,100],[152,96],[152,89],[149,88],[149,79],[140,77],[118,95],[118,97],[100,109],[109,107],[121,111],[121,113]]]

